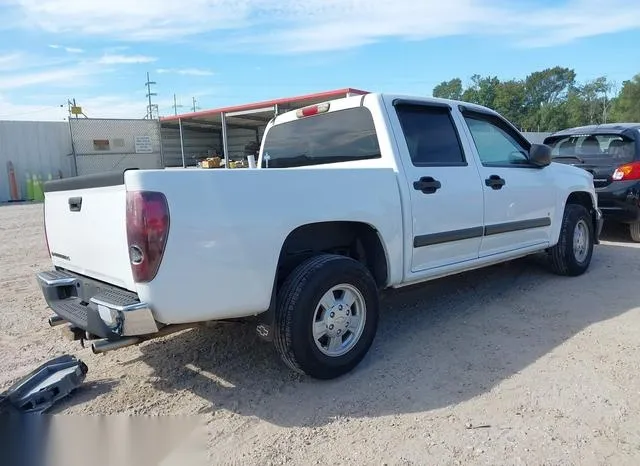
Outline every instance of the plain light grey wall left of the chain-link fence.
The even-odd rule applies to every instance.
[[[18,189],[26,198],[25,176],[71,175],[71,137],[66,122],[0,121],[0,202],[10,200],[7,162],[13,163]]]

